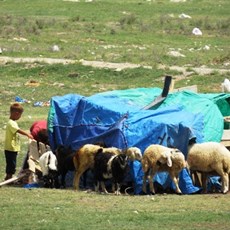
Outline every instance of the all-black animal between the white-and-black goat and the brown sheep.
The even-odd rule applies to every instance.
[[[73,157],[76,154],[70,147],[58,146],[55,150],[58,174],[61,176],[61,187],[65,188],[65,177],[68,171],[75,171]]]

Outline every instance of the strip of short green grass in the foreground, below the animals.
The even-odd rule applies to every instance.
[[[228,229],[228,195],[110,196],[1,188],[4,229]]]

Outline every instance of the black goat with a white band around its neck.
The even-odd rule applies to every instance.
[[[114,153],[105,152],[99,149],[94,158],[94,178],[95,191],[101,189],[104,193],[108,193],[105,188],[105,181],[112,179],[113,192],[120,194],[120,184],[125,178],[128,169],[128,156],[124,153],[114,155]]]

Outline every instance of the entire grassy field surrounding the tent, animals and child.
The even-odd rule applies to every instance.
[[[46,119],[49,107],[36,107],[67,93],[89,96],[136,87],[162,87],[165,75],[175,87],[196,84],[202,93],[220,93],[229,77],[228,0],[0,0],[0,180],[4,178],[4,129],[16,96],[25,99],[19,120],[28,130]],[[185,13],[190,19],[181,19]],[[198,27],[202,36],[192,34]],[[60,50],[52,51],[57,45]],[[183,56],[172,56],[175,51]],[[4,62],[4,57],[75,60],[75,64]],[[2,58],[2,59],[1,59]],[[151,68],[117,71],[83,66],[79,60],[133,63]],[[164,69],[159,65],[165,66]],[[189,75],[171,66],[183,67]],[[199,74],[194,67],[212,68]],[[29,86],[36,81],[38,86]],[[17,171],[27,151],[22,151]],[[65,190],[0,188],[1,229],[229,229],[229,194],[105,196]]]

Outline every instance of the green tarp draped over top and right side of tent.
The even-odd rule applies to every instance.
[[[105,92],[102,94],[111,92]],[[126,98],[129,103],[139,106],[149,104],[160,93],[159,88],[136,88],[128,90],[112,91],[119,98]],[[183,106],[185,110],[192,113],[201,113],[204,116],[204,141],[220,142],[224,129],[224,116],[230,116],[230,94],[210,93],[200,94],[192,91],[181,91],[169,93],[163,103],[157,108],[170,105]],[[152,108],[156,109],[156,107]],[[186,119],[186,117],[184,118]]]

